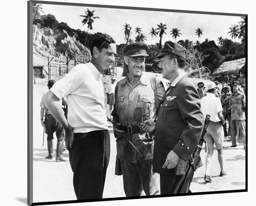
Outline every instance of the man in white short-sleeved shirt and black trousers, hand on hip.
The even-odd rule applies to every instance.
[[[115,40],[107,34],[96,33],[90,51],[90,63],[75,66],[45,95],[47,108],[65,130],[77,199],[102,198],[110,154],[101,73],[115,61]],[[59,103],[65,96],[67,120]]]

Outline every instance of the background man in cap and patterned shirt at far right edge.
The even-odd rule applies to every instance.
[[[231,140],[230,147],[236,147],[237,142],[241,142],[245,149],[245,94],[239,92],[240,83],[233,81],[233,93],[224,100],[224,103],[230,101],[231,105]]]

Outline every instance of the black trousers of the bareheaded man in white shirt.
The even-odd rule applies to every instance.
[[[108,130],[75,133],[69,161],[76,198],[101,199],[110,155]]]

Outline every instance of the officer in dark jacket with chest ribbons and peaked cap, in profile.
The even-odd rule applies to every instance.
[[[204,118],[194,82],[184,71],[186,49],[167,41],[157,58],[163,78],[171,84],[160,103],[156,122],[145,121],[142,128],[155,128],[153,171],[160,174],[161,194],[175,194],[180,193],[185,168],[202,134]]]

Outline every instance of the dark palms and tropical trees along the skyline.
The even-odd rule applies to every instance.
[[[81,15],[81,17],[83,17],[83,26],[87,24],[86,32],[81,29],[73,29],[69,27],[65,22],[59,23],[52,14],[43,15],[42,5],[40,4],[33,5],[33,15],[33,24],[36,24],[40,27],[49,27],[58,32],[65,30],[69,36],[74,37],[83,45],[90,44],[93,33],[88,33],[88,31],[93,28],[94,20],[99,19],[99,17],[94,16],[94,11],[87,9],[85,15]],[[200,42],[199,40],[203,35],[203,30],[201,28],[197,28],[194,31],[198,37],[198,40],[194,42],[189,39],[178,40],[177,43],[181,44],[187,49],[186,67],[195,69],[206,66],[209,68],[209,70],[214,71],[216,67],[224,61],[244,58],[246,55],[246,23],[246,17],[242,17],[240,22],[227,28],[227,32],[231,39],[223,38],[220,36],[216,41],[205,39],[204,41]],[[159,23],[157,27],[151,27],[149,30],[148,35],[151,37],[151,45],[148,45],[149,56],[146,58],[146,69],[148,69],[148,71],[161,71],[158,66],[159,61],[156,58],[156,55],[159,53],[159,49],[162,48],[162,37],[164,34],[166,34],[166,30],[167,25],[164,23]],[[124,32],[124,42],[120,45],[117,45],[117,57],[122,57],[121,49],[127,44],[133,43],[135,41],[145,42],[147,40],[147,36],[145,33],[143,33],[141,27],[135,27],[132,29],[130,24],[125,23],[123,25],[122,31]],[[134,37],[132,37],[132,32],[135,34]],[[171,36],[169,36],[169,38],[172,37],[174,41],[176,41],[176,38],[180,37],[182,34],[178,28],[172,28],[170,35]],[[160,38],[158,43],[152,45],[153,37],[158,36]],[[241,43],[235,41],[237,37]]]

